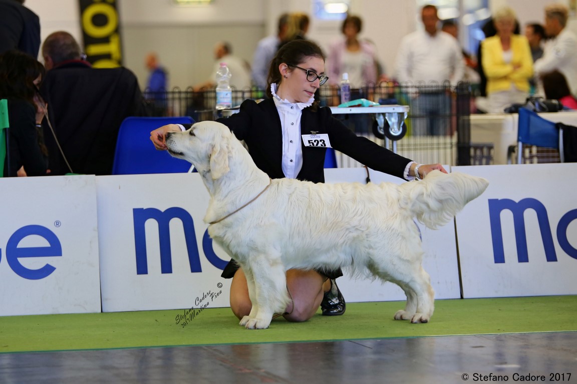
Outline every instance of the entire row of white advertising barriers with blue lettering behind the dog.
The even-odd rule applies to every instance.
[[[577,164],[452,167],[489,188],[439,230],[419,224],[436,298],[577,294]],[[327,183],[365,183],[363,168]],[[370,170],[373,183],[403,180]],[[227,307],[230,257],[203,221],[197,173],[0,179],[0,315]],[[97,219],[98,218],[98,219]],[[404,300],[339,279],[348,302]],[[194,315],[195,311],[188,311]],[[183,319],[185,321],[186,319]]]

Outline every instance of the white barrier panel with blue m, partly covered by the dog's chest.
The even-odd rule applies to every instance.
[[[198,173],[99,176],[96,185],[104,312],[229,306],[218,266],[230,257],[212,250]]]

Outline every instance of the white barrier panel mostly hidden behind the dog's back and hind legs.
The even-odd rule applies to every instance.
[[[445,169],[449,170],[448,166]],[[378,184],[385,181],[401,184],[406,181],[386,173],[372,169],[370,180]],[[366,170],[364,168],[338,168],[325,169],[325,181],[327,183],[340,183],[357,181],[365,183]],[[415,181],[415,183],[418,183]],[[431,277],[431,284],[435,291],[436,299],[460,298],[459,268],[457,264],[457,250],[455,240],[455,226],[448,223],[437,230],[431,230],[417,223],[421,230],[423,249],[423,268]],[[386,236],[386,234],[383,234]],[[393,283],[382,284],[380,280],[353,279],[346,269],[344,276],[337,281],[347,302],[366,301],[397,301],[405,300],[403,290]]]

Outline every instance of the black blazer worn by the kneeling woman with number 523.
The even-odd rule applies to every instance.
[[[245,140],[250,156],[257,167],[271,178],[283,178],[282,170],[282,127],[275,102],[268,98],[260,103],[245,100],[240,111],[217,120],[223,123],[239,140]],[[331,109],[321,107],[317,111],[302,110],[301,135],[311,132],[328,134],[331,146],[371,169],[403,178],[403,172],[410,159],[404,158],[377,145],[344,126],[332,116]],[[302,146],[302,168],[298,180],[324,182],[324,159],[326,149]]]

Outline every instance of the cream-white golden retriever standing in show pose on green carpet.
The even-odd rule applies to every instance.
[[[396,320],[428,322],[434,292],[421,266],[416,217],[434,229],[481,195],[484,178],[430,172],[396,185],[270,180],[226,126],[194,124],[166,136],[168,151],[191,162],[211,196],[208,233],[242,267],[252,310],[240,324],[268,328],[289,301],[285,272],[365,267],[407,295]]]

